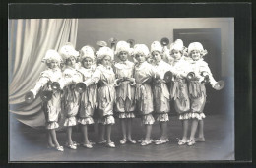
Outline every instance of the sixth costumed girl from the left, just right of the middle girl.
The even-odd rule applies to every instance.
[[[154,111],[153,93],[151,88],[152,79],[155,78],[155,71],[146,60],[150,56],[149,48],[145,44],[136,44],[133,55],[137,61],[135,65],[134,78],[136,82],[135,100],[137,109],[141,115],[142,123],[145,125],[145,139],[141,145],[148,145],[153,142],[151,139],[152,125],[155,119],[152,115]]]

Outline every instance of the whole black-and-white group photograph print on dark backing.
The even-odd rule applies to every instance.
[[[235,158],[234,18],[8,20],[9,161]]]

